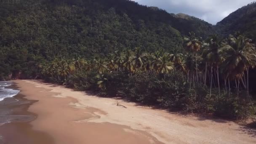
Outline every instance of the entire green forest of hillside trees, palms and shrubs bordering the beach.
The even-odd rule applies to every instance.
[[[205,21],[128,0],[0,3],[1,79],[41,78],[234,119],[253,112],[248,35],[221,38]]]

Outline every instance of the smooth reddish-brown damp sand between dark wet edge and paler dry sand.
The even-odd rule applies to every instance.
[[[61,92],[52,92],[56,87],[38,88],[23,80],[13,82],[17,83],[26,99],[38,100],[28,109],[38,115],[30,124],[35,131],[49,133],[54,144],[113,144],[118,141],[122,144],[163,144],[147,132],[125,125],[83,122],[94,117],[94,113],[107,113],[93,107],[77,106],[77,99],[64,98]]]

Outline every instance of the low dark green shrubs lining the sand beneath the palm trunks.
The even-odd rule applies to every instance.
[[[55,79],[56,80],[56,79]],[[99,96],[121,96],[125,99],[147,105],[159,105],[167,109],[180,109],[185,112],[207,112],[229,119],[245,119],[250,115],[248,99],[244,96],[222,94],[203,85],[190,88],[190,83],[172,72],[166,75],[136,72],[99,74],[96,71],[72,75],[69,84],[76,90],[91,90]],[[243,95],[243,93],[240,93]]]

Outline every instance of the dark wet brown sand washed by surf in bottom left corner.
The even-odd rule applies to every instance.
[[[48,133],[32,129],[30,121],[37,115],[27,110],[37,101],[27,100],[24,97],[18,94],[15,98],[0,101],[0,110],[11,111],[10,114],[1,117],[13,117],[12,120],[15,121],[0,126],[0,144],[53,144],[53,138]]]

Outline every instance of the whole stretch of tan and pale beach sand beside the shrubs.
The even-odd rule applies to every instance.
[[[184,116],[35,80],[15,80],[38,115],[33,129],[56,144],[255,144],[256,132],[234,122]]]

